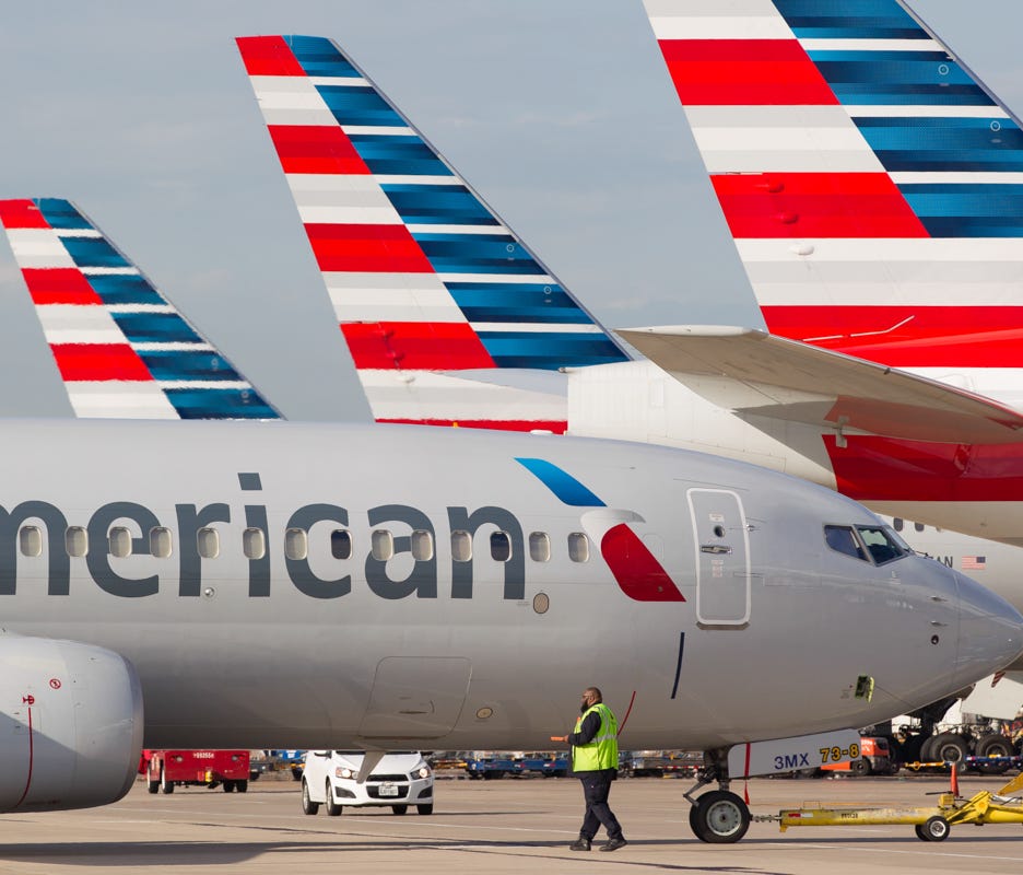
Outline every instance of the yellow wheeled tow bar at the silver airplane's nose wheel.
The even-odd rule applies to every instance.
[[[783,832],[789,827],[891,826],[907,824],[922,841],[944,841],[951,828],[959,824],[1023,824],[1023,774],[1018,775],[997,793],[981,790],[963,800],[957,795],[955,771],[952,791],[938,797],[938,805],[920,808],[791,808],[778,816],[756,816],[756,820],[776,820]]]

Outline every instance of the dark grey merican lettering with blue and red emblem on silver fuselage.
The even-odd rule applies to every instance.
[[[600,545],[601,556],[611,570],[622,592],[637,602],[684,602],[660,562],[652,556],[642,539],[632,529],[631,523],[642,517],[632,512],[608,509],[589,490],[550,463],[542,459],[517,459],[540,477],[550,487],[560,477],[558,492],[555,494],[573,506],[588,508],[580,514],[580,523],[588,535]],[[528,464],[527,464],[528,463]],[[548,466],[548,467],[544,467]],[[539,472],[538,472],[539,471]],[[560,472],[554,474],[554,472]],[[542,474],[542,476],[541,476]],[[546,478],[546,479],[544,479]],[[260,477],[255,472],[239,474],[238,480],[244,491],[261,490]],[[565,490],[568,492],[565,492]],[[585,490],[585,492],[583,491]],[[571,494],[569,494],[571,493]],[[166,516],[166,512],[164,512]],[[277,514],[274,513],[274,516]],[[277,542],[286,542],[289,533],[308,533],[318,527],[322,532],[325,524],[332,527],[332,534],[350,534],[350,512],[346,508],[332,503],[306,504],[295,510],[286,520],[284,530]],[[485,505],[470,510],[466,506],[448,506],[445,513],[446,526],[452,545],[456,538],[468,541],[467,555],[450,557],[450,598],[472,598],[475,578],[475,558],[471,542],[481,529],[499,535],[504,547],[501,556],[491,555],[485,559],[499,563],[503,574],[502,598],[519,602],[526,598],[526,536],[522,524],[511,511]],[[425,511],[408,504],[380,504],[358,513],[358,537],[372,536],[378,532],[387,533],[391,550],[386,556],[376,556],[369,550],[364,559],[352,555],[334,556],[334,559],[352,559],[362,564],[365,582],[369,591],[380,598],[400,599],[408,597],[437,598],[440,576],[438,558],[431,546],[428,552],[418,551],[413,538],[409,535],[392,535],[393,526],[398,530],[404,527],[413,535],[425,538],[431,545],[437,542],[438,525]],[[203,570],[216,568],[215,558],[202,552],[202,535],[216,530],[219,524],[230,525],[233,520],[244,521],[246,533],[259,533],[264,545],[256,553],[246,553],[247,595],[250,598],[266,598],[271,594],[271,547],[270,513],[264,504],[244,504],[240,514],[234,513],[226,502],[214,502],[203,506],[192,503],[174,504],[174,525],[167,526],[152,509],[132,501],[114,501],[97,508],[90,515],[87,523],[69,523],[68,515],[58,506],[46,501],[23,501],[12,510],[0,506],[0,596],[14,595],[19,584],[19,561],[25,557],[46,557],[47,595],[66,596],[71,592],[72,559],[75,569],[84,561],[89,578],[105,593],[120,598],[144,598],[156,595],[162,582],[174,581],[177,595],[184,598],[198,598],[203,593]],[[26,529],[32,532],[35,546],[25,549],[23,536]],[[124,549],[115,548],[114,532],[119,529],[124,540],[130,544]],[[368,530],[366,530],[368,529]],[[71,546],[72,532],[87,545],[86,549],[75,552]],[[173,551],[157,551],[153,533],[166,535],[173,541]],[[45,533],[45,535],[44,535]],[[140,533],[140,534],[134,534]],[[493,537],[493,535],[492,535]],[[349,545],[353,540],[346,541]],[[22,549],[19,550],[19,546]],[[19,556],[21,553],[21,557]],[[284,567],[289,581],[298,592],[310,598],[339,598],[352,592],[353,575],[327,576],[330,551],[326,557],[314,557],[313,551],[299,551],[290,555],[284,551]],[[139,558],[149,561],[140,563]],[[163,562],[175,562],[176,573],[157,571]],[[326,561],[325,561],[326,560]],[[397,561],[395,561],[397,560]],[[351,568],[342,562],[338,570]],[[157,573],[142,574],[145,571]],[[131,574],[134,571],[134,575]],[[75,570],[75,578],[80,572]],[[400,576],[399,576],[400,575]],[[223,578],[223,572],[217,573]],[[37,575],[22,568],[23,582],[37,579]]]

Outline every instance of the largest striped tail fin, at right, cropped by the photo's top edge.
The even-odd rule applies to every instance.
[[[1023,365],[1023,132],[896,0],[644,0],[773,334]]]

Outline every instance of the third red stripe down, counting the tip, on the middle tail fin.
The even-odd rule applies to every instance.
[[[404,225],[307,224],[320,270],[433,273],[433,266]]]

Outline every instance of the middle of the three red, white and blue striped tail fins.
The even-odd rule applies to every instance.
[[[515,373],[618,342],[334,43],[237,43],[374,417],[564,431]]]

